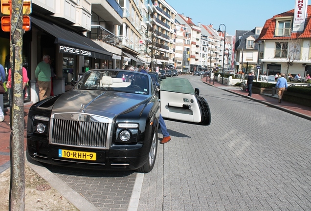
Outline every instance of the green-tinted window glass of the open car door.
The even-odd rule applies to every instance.
[[[171,91],[185,94],[194,94],[195,90],[188,81],[184,78],[174,78],[174,80],[163,80],[161,83],[161,90]]]

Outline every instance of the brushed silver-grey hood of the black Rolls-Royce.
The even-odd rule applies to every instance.
[[[52,114],[83,112],[101,116],[115,116],[149,96],[98,90],[70,90],[62,94],[53,105]]]

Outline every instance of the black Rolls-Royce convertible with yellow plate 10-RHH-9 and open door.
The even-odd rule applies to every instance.
[[[151,77],[128,70],[89,70],[71,90],[33,104],[27,158],[85,171],[150,172],[160,109],[168,120],[202,126],[211,122],[208,103],[187,79],[163,80],[159,99]]]

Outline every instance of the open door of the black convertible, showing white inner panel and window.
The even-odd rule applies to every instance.
[[[165,119],[208,126],[211,112],[208,103],[199,96],[188,79],[164,80],[160,90],[161,115]]]

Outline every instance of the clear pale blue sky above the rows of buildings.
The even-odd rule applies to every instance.
[[[294,9],[295,0],[166,0],[178,14],[192,19],[195,24],[213,24],[218,30],[225,25],[229,35],[236,30],[263,27],[267,19]],[[308,1],[311,4],[311,0]],[[221,26],[224,30],[224,26]]]

